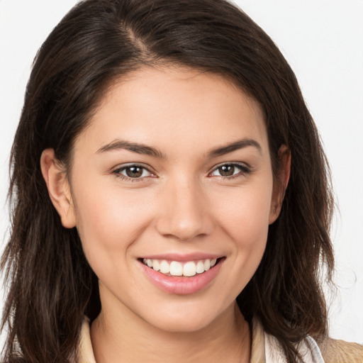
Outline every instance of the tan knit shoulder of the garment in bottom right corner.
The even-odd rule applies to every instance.
[[[327,338],[318,343],[325,363],[362,363],[363,345]]]

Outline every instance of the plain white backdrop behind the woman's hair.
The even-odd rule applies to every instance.
[[[9,233],[9,152],[33,57],[76,2],[0,0],[0,246]],[[339,206],[333,225],[338,292],[328,293],[330,335],[362,343],[363,0],[235,3],[277,43],[320,130]]]

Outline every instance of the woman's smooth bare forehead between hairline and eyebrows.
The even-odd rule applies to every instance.
[[[83,134],[94,147],[112,138],[184,150],[244,137],[267,145],[257,101],[217,74],[172,66],[143,67],[113,82]]]

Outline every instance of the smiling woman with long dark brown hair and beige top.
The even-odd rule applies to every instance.
[[[80,3],[38,53],[11,162],[7,362],[359,362],[326,338],[318,133],[232,5]]]

